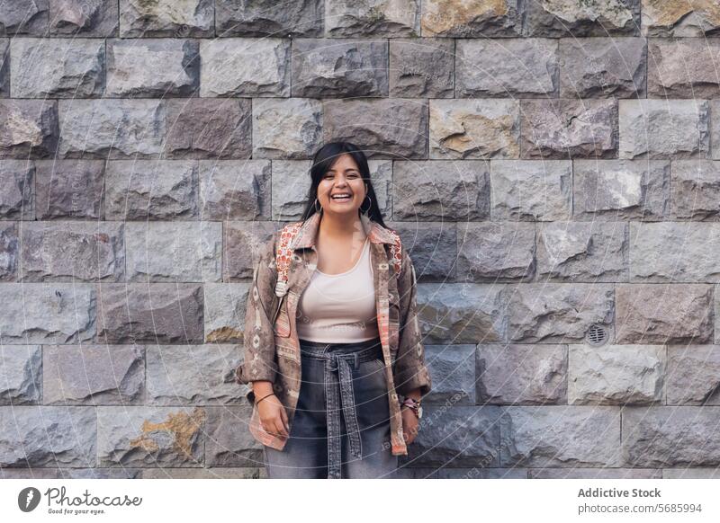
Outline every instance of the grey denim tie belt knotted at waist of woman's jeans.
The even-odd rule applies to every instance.
[[[334,350],[329,350],[334,347]],[[340,434],[340,407],[342,406],[347,428],[350,452],[363,457],[360,426],[355,408],[353,374],[350,363],[357,370],[358,363],[383,358],[379,339],[357,343],[320,343],[301,341],[302,358],[325,361],[325,406],[328,411],[328,477],[340,477],[342,462],[342,437]]]

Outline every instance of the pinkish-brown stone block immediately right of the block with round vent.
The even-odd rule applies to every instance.
[[[617,343],[709,343],[713,287],[637,283],[616,286]]]

